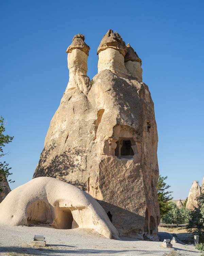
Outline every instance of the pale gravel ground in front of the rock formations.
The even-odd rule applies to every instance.
[[[29,243],[35,234],[46,237],[48,246],[31,247]],[[160,234],[160,236],[165,234]],[[54,229],[49,227],[5,227],[0,226],[0,256],[63,256],[63,255],[113,255],[113,256],[148,256],[148,255],[191,255],[201,256],[194,246],[173,243],[171,249],[161,247],[162,242],[139,241],[121,238],[107,239],[95,231],[87,229]]]

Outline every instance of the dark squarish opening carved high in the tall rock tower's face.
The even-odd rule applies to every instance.
[[[116,141],[115,156],[122,158],[132,158],[136,151],[136,144],[133,138],[119,138]]]

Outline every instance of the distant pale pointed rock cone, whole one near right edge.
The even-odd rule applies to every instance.
[[[201,194],[201,187],[199,186],[197,181],[194,181],[189,194],[188,194],[188,200],[186,203],[186,208],[189,210],[194,210],[195,208],[198,208],[198,197]]]

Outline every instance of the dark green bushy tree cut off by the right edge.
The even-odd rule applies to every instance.
[[[204,193],[198,198],[198,208],[191,211],[190,221],[187,229],[189,232],[196,232],[200,236],[204,233]]]

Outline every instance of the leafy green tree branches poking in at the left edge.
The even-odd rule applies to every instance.
[[[4,135],[5,131],[5,125],[4,125],[4,118],[0,117],[0,157],[4,156],[5,153],[3,153],[3,147],[5,144],[8,144],[9,142],[12,142],[14,137],[11,137],[9,135]],[[10,173],[11,167],[8,167],[8,163],[0,162],[0,184],[2,181],[6,181],[7,177],[11,175]],[[14,182],[12,180],[8,180],[8,182]],[[0,191],[3,190],[3,186],[0,185]]]

